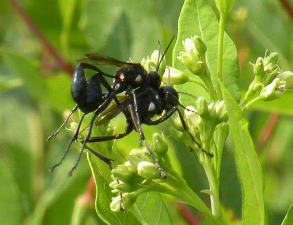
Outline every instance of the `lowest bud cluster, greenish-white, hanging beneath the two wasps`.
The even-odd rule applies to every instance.
[[[168,176],[168,144],[164,136],[157,133],[153,135],[152,149],[158,163]],[[113,189],[113,193],[117,193],[110,204],[110,208],[114,212],[129,209],[140,194],[158,191],[158,183],[165,181],[145,148],[132,149],[127,160],[125,164],[118,165],[111,171],[113,182],[109,186]]]

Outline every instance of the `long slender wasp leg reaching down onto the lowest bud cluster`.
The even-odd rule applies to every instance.
[[[158,163],[157,159],[155,158],[154,154],[150,150],[148,144],[146,143],[146,138],[145,138],[144,132],[143,132],[142,127],[141,127],[140,117],[139,117],[139,113],[138,113],[137,100],[136,100],[136,96],[135,96],[135,93],[134,93],[133,90],[131,90],[131,94],[133,96],[133,106],[134,107],[132,106],[132,104],[130,104],[128,107],[130,109],[130,114],[131,114],[133,123],[136,126],[137,132],[139,133],[140,144],[141,144],[141,142],[144,142],[151,160],[156,165],[161,177],[165,179],[166,178],[166,173],[164,172],[164,170],[162,169],[162,167]]]

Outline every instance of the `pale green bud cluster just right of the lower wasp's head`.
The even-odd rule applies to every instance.
[[[192,149],[197,148],[185,132],[180,118],[175,117],[172,120],[174,124],[170,126],[172,136],[178,141],[186,143]],[[198,97],[195,108],[193,106],[186,107],[184,121],[195,140],[209,148],[214,129],[219,123],[227,122],[228,115],[223,101],[208,103],[205,98]]]

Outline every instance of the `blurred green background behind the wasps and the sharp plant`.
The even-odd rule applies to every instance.
[[[17,2],[23,14],[13,0],[2,0],[0,4],[0,221],[5,221],[5,225],[69,225],[75,202],[86,191],[89,166],[82,157],[73,177],[67,178],[77,157],[78,145],[73,144],[62,166],[54,173],[48,172],[61,158],[72,133],[63,130],[46,143],[46,138],[62,123],[65,110],[74,105],[69,71],[85,53],[141,61],[157,48],[157,40],[166,46],[176,34],[183,0]],[[293,6],[293,0],[288,2]],[[66,65],[52,57],[33,26],[28,25],[30,21]],[[293,18],[280,1],[237,1],[227,32],[238,49],[242,90],[253,79],[249,62],[263,56],[266,49],[279,53],[283,70],[293,70]],[[168,64],[170,57],[171,51],[167,54]],[[281,100],[259,103],[247,112],[263,166],[270,225],[281,224],[293,203],[292,97],[292,93],[286,93]],[[275,124],[272,133],[265,129],[266,123]],[[147,129],[147,137],[160,128],[164,129]],[[259,141],[262,133],[269,133],[265,144]],[[138,140],[137,134],[120,146],[137,147],[138,142],[133,140]],[[206,189],[208,184],[200,164],[190,160],[190,152],[182,143],[172,139],[169,142],[177,149],[177,163],[188,184],[197,193]],[[240,218],[241,191],[229,143],[222,166],[222,204]],[[207,195],[201,197],[208,203]],[[180,218],[177,221],[184,223]],[[97,219],[93,204],[88,208],[86,223],[103,224]]]

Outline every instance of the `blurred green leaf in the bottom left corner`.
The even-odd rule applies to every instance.
[[[21,225],[23,217],[21,192],[3,159],[0,161],[0,176],[0,221],[5,225]]]

